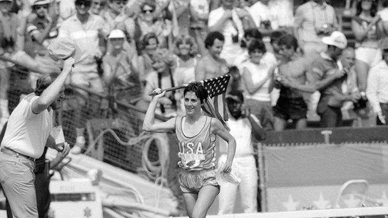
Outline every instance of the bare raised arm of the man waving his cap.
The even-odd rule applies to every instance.
[[[56,100],[62,91],[66,78],[71,74],[75,60],[73,57],[63,61],[63,70],[59,76],[42,92],[38,99],[32,102],[32,112],[38,114],[46,110]]]

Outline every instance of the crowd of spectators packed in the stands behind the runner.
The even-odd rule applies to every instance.
[[[266,130],[302,129],[315,118],[322,127],[341,126],[343,119],[373,113],[385,123],[388,93],[375,84],[386,78],[386,46],[380,45],[388,1],[352,2],[354,48],[326,0],[305,1],[296,10],[288,0],[0,0],[0,54],[30,69],[33,88],[36,72],[60,70],[48,56],[50,40],[70,38],[83,55],[68,84],[143,109],[156,88],[230,74],[229,91],[243,91]],[[10,63],[0,61],[3,122]],[[89,94],[73,92],[80,111]],[[181,91],[161,98],[157,113],[183,114]],[[74,123],[80,147],[84,123],[83,117]]]

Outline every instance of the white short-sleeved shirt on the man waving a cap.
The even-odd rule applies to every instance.
[[[2,147],[35,159],[42,156],[52,129],[52,110],[32,112],[32,102],[36,99],[38,96],[30,94],[18,104],[8,119],[2,141]]]

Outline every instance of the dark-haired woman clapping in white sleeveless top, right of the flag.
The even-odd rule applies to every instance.
[[[261,40],[254,39],[249,43],[249,60],[242,63],[242,80],[246,91],[245,103],[250,112],[260,119],[266,130],[272,130],[274,115],[270,93],[276,64],[263,58],[266,51]]]

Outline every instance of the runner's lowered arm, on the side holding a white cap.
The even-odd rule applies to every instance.
[[[234,153],[236,152],[236,139],[234,139],[218,119],[212,119],[211,126],[211,131],[214,134],[228,142],[228,156],[226,158],[224,172],[230,172],[232,170]]]

